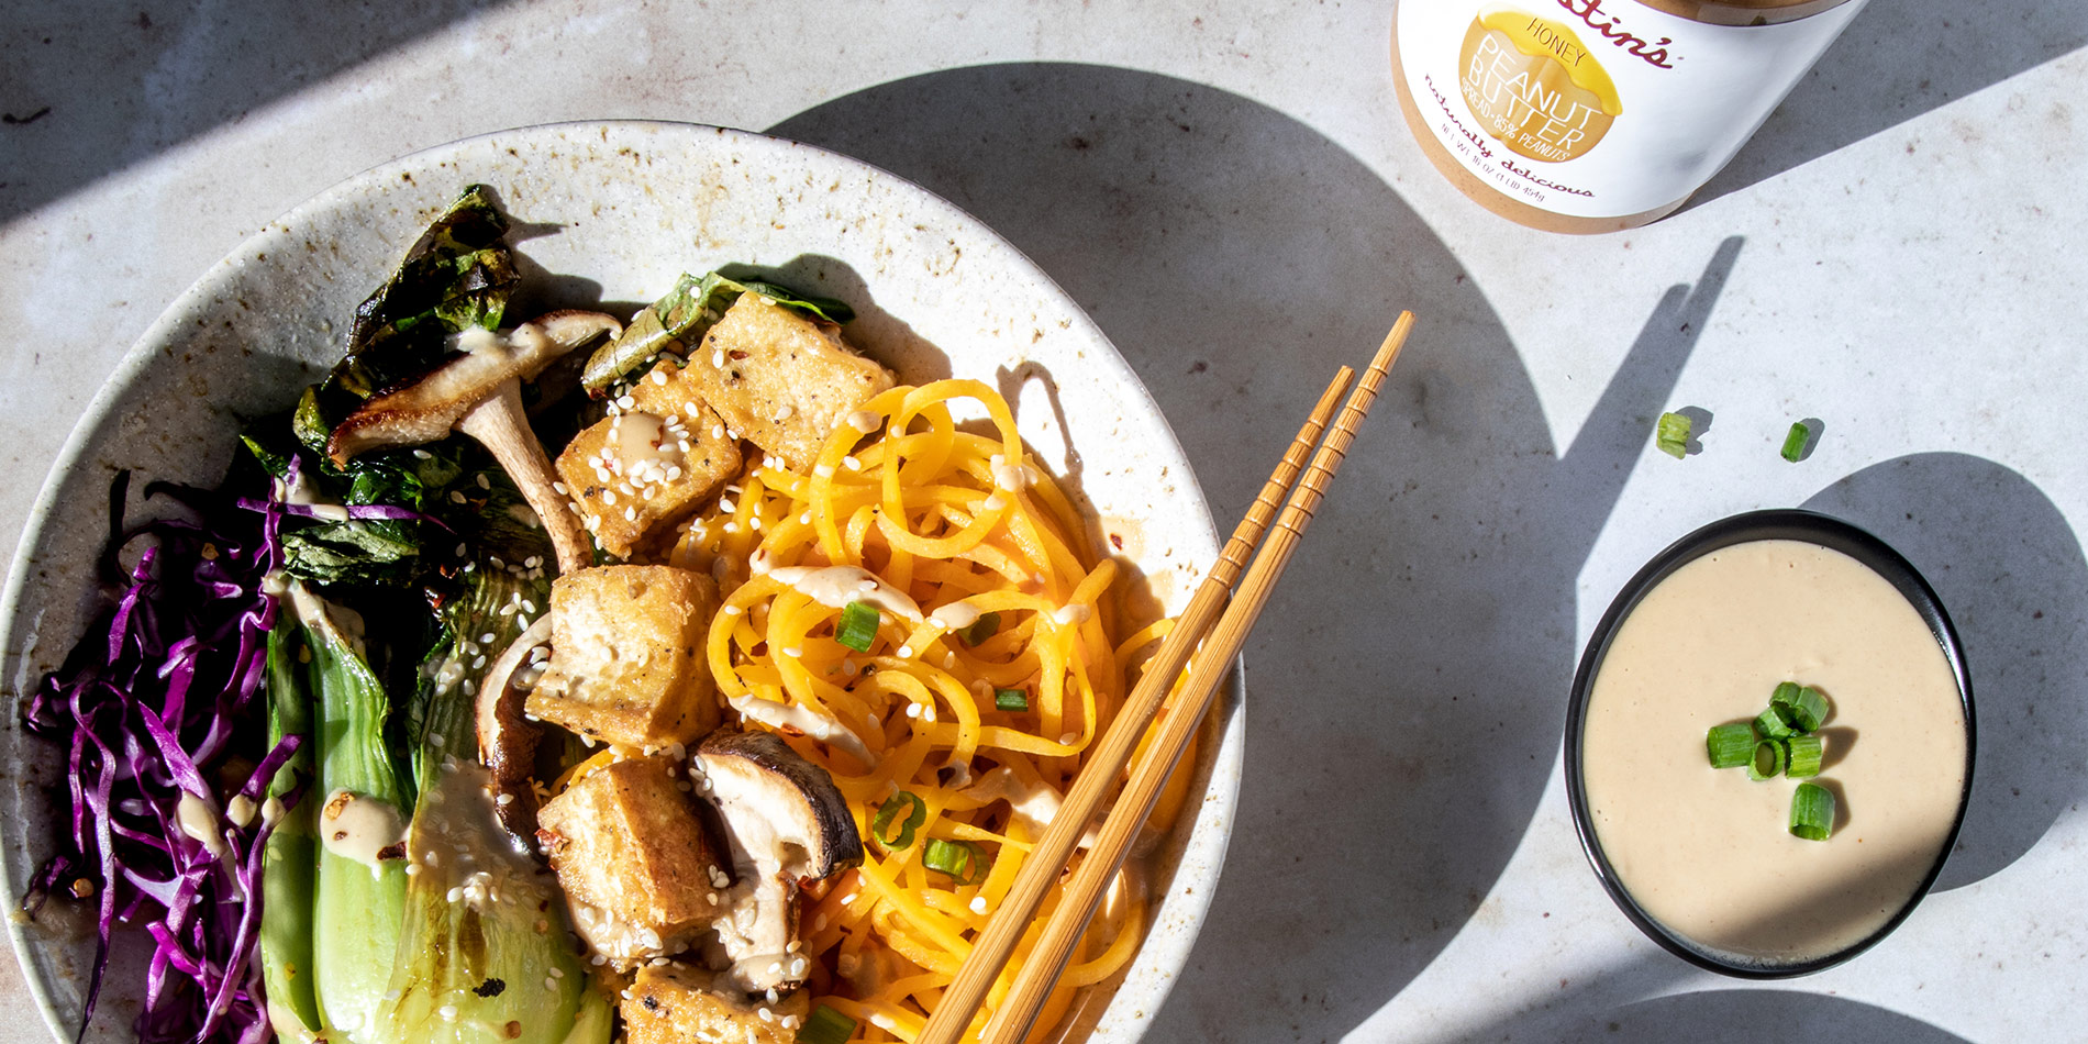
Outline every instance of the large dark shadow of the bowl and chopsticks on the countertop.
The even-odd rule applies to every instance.
[[[944,194],[1036,259],[1159,399],[1230,524],[1328,374],[1422,313],[1247,651],[1232,848],[1153,1040],[1336,1038],[1493,887],[1556,764],[1583,560],[1741,248],[1650,292],[1568,451],[1455,257],[1295,119],[1171,77],[992,65],[773,134]],[[1094,466],[1096,461],[1090,461]]]

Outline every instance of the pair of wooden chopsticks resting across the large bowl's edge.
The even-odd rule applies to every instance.
[[[942,992],[942,1002],[929,1015],[927,1025],[921,1027],[915,1044],[956,1044],[971,1027],[973,1017],[1000,977],[1000,969],[1015,954],[1015,946],[1029,929],[1031,919],[1036,919],[1046,892],[1050,892],[1061,869],[1073,856],[1073,848],[1088,831],[1088,823],[1094,821],[1094,812],[1100,810],[1111,783],[1130,764],[1140,737],[1144,737],[1153,718],[1159,716],[1182,668],[1188,666],[1190,651],[1196,651],[1201,643],[1201,656],[1190,666],[1188,681],[1184,681],[1173,710],[1161,722],[1161,731],[1153,739],[1144,760],[1132,770],[1109,816],[1102,818],[1100,833],[1088,848],[1088,858],[1082,860],[1067,883],[1065,896],[1044,925],[1044,933],[1038,935],[1036,946],[1029,950],[1029,958],[1015,975],[1006,998],[988,1017],[983,1040],[988,1044],[1013,1044],[1029,1034],[1029,1025],[1050,996],[1052,986],[1059,983],[1059,975],[1065,971],[1073,950],[1079,946],[1096,904],[1109,889],[1109,881],[1123,867],[1123,856],[1130,852],[1138,827],[1153,814],[1153,804],[1159,800],[1167,775],[1182,760],[1182,752],[1188,748],[1190,737],[1194,737],[1196,727],[1211,708],[1219,683],[1224,683],[1232,668],[1232,658],[1240,654],[1247,633],[1270,601],[1276,578],[1290,562],[1299,539],[1305,537],[1305,526],[1320,507],[1320,499],[1326,495],[1328,482],[1334,480],[1334,472],[1340,470],[1340,461],[1355,441],[1355,428],[1378,399],[1378,388],[1384,384],[1384,376],[1391,372],[1393,359],[1399,357],[1399,349],[1405,345],[1407,330],[1411,328],[1414,313],[1401,311],[1399,322],[1393,324],[1393,332],[1378,347],[1378,355],[1363,370],[1363,380],[1349,395],[1347,405],[1340,409],[1340,420],[1334,422],[1334,430],[1326,436],[1326,443],[1320,443],[1320,434],[1326,432],[1328,418],[1334,416],[1334,403],[1349,390],[1355,372],[1347,365],[1340,367],[1334,374],[1334,382],[1320,395],[1320,403],[1313,407],[1311,418],[1305,420],[1305,428],[1299,430],[1290,449],[1284,451],[1284,459],[1276,466],[1270,482],[1261,487],[1261,495],[1247,509],[1247,518],[1232,530],[1232,539],[1226,541],[1217,564],[1205,574],[1188,608],[1176,618],[1173,631],[1167,633],[1159,651],[1146,662],[1144,674],[1132,687],[1130,699],[1123,702],[1123,710],[1117,712],[1117,718],[1102,733],[1102,741],[1096,743],[1088,764],[1073,777],[1073,789],[1059,804],[1059,814],[1036,848],[1029,850],[1029,858],[1023,862],[1021,873],[1015,875],[1006,898],[992,921],[986,923],[986,931],[971,944],[971,954]],[[1313,451],[1315,445],[1320,447],[1318,451]],[[1311,457],[1309,466],[1305,464],[1307,455]],[[1303,480],[1299,472],[1303,472]],[[1278,507],[1282,509],[1280,514]],[[1274,535],[1270,535],[1272,518]],[[1267,535],[1267,543],[1263,543],[1263,535]],[[1259,553],[1255,553],[1257,545],[1261,545]],[[1247,564],[1249,555],[1253,555],[1253,566]],[[1234,583],[1238,583],[1238,589],[1234,589]]]

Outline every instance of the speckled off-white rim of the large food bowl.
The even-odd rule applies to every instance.
[[[1194,480],[1194,468],[1182,451],[1173,428],[1167,426],[1165,416],[1159,413],[1159,405],[1153,401],[1150,393],[1115,351],[1115,347],[1109,345],[1109,338],[1100,332],[1100,328],[1094,326],[1077,301],[1071,299],[1071,294],[1067,294],[1015,244],[950,200],[860,159],[804,142],[733,127],[641,119],[568,121],[512,127],[459,138],[380,163],[296,205],[211,265],[123,355],[58,451],[38,499],[29,509],[21,543],[17,545],[15,560],[8,568],[4,595],[0,595],[0,651],[4,651],[6,658],[4,674],[0,677],[6,679],[8,689],[15,693],[15,704],[8,710],[8,722],[0,727],[0,770],[10,773],[15,779],[23,779],[29,758],[46,758],[56,752],[56,748],[27,737],[19,722],[19,699],[23,699],[35,683],[35,677],[29,674],[27,668],[23,641],[35,641],[40,620],[40,614],[25,614],[29,608],[23,606],[23,595],[29,587],[29,576],[38,572],[38,551],[50,537],[50,528],[54,524],[75,522],[75,516],[71,514],[61,516],[63,505],[58,499],[67,474],[94,466],[90,453],[98,449],[98,434],[117,418],[115,407],[123,399],[125,388],[148,378],[155,367],[165,365],[161,361],[161,349],[175,342],[177,334],[186,332],[198,315],[209,313],[213,305],[223,305],[223,299],[217,294],[221,294],[228,286],[236,286],[240,271],[253,263],[257,255],[265,257],[269,248],[278,246],[288,248],[288,240],[296,234],[296,230],[313,221],[315,215],[347,207],[353,198],[365,192],[382,192],[382,186],[386,184],[401,184],[401,180],[411,184],[413,173],[436,173],[447,167],[451,157],[468,152],[474,146],[491,146],[493,142],[543,142],[547,138],[570,134],[599,134],[603,140],[610,140],[610,136],[643,134],[674,140],[679,144],[718,140],[752,155],[789,155],[806,159],[823,165],[837,177],[875,177],[894,186],[894,190],[904,192],[910,196],[910,207],[931,215],[940,230],[952,234],[952,242],[960,240],[967,251],[998,255],[996,259],[1013,269],[1019,269],[1019,276],[1031,284],[1042,299],[1063,305],[1065,313],[1071,317],[1067,334],[1086,342],[1086,351],[1082,353],[1084,365],[1098,367],[1105,380],[1121,382],[1159,424],[1163,445],[1153,445],[1150,449],[1155,449],[1169,468],[1178,468],[1182,476],[1178,484],[1167,489],[1167,499],[1176,503],[1171,516],[1176,522],[1196,522],[1190,526],[1192,532],[1169,532],[1169,539],[1196,562],[1199,572],[1217,557],[1217,535],[1211,526],[1211,512],[1203,499],[1203,491]],[[455,169],[449,169],[445,177],[470,180],[461,177]],[[405,242],[393,244],[395,253],[403,251],[403,246]],[[585,276],[585,271],[580,276]],[[382,274],[378,274],[370,286],[374,286],[380,278]],[[956,355],[952,355],[952,361],[954,359]],[[1159,501],[1159,497],[1155,497],[1155,501]],[[96,509],[92,518],[96,520],[94,526],[98,530],[102,514]],[[92,583],[94,580],[90,576],[81,576],[84,587]],[[1167,610],[1178,612],[1186,597],[1186,587],[1176,591],[1169,597]],[[69,645],[71,637],[61,641]],[[1161,873],[1157,875],[1159,885],[1155,889],[1157,902],[1148,910],[1146,940],[1140,944],[1138,956],[1125,971],[1119,971],[1115,979],[1090,988],[1088,1002],[1075,1002],[1075,1009],[1067,1017],[1067,1025],[1092,1025],[1092,1034],[1086,1040],[1130,1042],[1142,1038],[1153,1015],[1173,988],[1176,977],[1188,965],[1190,946],[1194,944],[1196,931],[1209,910],[1211,896],[1215,894],[1215,881],[1219,869],[1224,867],[1226,848],[1232,835],[1232,814],[1238,802],[1240,764],[1244,754],[1247,716],[1242,712],[1242,668],[1234,664],[1221,704],[1213,710],[1201,733],[1203,741],[1199,748],[1199,760],[1192,766],[1192,798],[1196,793],[1203,798],[1201,802],[1190,800],[1184,804],[1173,833],[1161,844],[1157,854],[1161,860]],[[19,812],[27,798],[10,787],[8,802],[10,804],[6,804],[4,810]],[[48,852],[48,841],[40,844],[40,839],[27,837],[27,825],[21,814],[6,816],[6,823],[0,825],[0,839],[6,841],[6,852],[0,854],[0,889],[4,889],[8,902],[15,902],[27,887],[33,867],[42,860],[44,852]],[[1165,892],[1159,892],[1159,887],[1165,887]],[[35,1006],[42,1011],[46,1023],[58,1040],[71,1040],[77,1029],[79,1013],[63,1011],[58,1004],[61,994],[52,986],[52,979],[63,975],[56,967],[56,954],[52,952],[56,946],[35,940],[19,917],[8,921],[8,935],[15,944],[15,956],[23,969],[23,977],[27,979],[29,994],[35,998]],[[84,969],[75,971],[75,975],[81,973]],[[1109,990],[1111,986],[1113,990]],[[1092,994],[1094,990],[1109,990],[1107,1004],[1100,1013],[1094,1011],[1094,1002],[1100,1000],[1098,994]],[[111,979],[104,983],[102,1004],[106,1006],[134,992],[136,990],[123,990],[123,983]],[[100,1027],[102,1019],[96,1019],[96,1025]],[[127,1025],[123,1029],[125,1031],[121,1034],[92,1034],[88,1040],[129,1040]]]

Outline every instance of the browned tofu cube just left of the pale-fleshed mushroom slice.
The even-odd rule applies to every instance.
[[[624,758],[537,812],[574,927],[620,965],[674,952],[722,910],[729,881],[672,758]]]

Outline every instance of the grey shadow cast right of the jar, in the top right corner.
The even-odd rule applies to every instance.
[[[1702,207],[1842,146],[1892,129],[1982,88],[2088,44],[2088,4],[2044,0],[1875,0],[1739,155],[1689,200]],[[2053,109],[2053,134],[2078,134],[2071,100],[2034,98]],[[1982,129],[1956,125],[1975,140]],[[1908,157],[1923,144],[1906,142]]]

